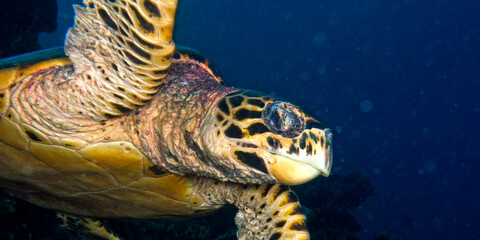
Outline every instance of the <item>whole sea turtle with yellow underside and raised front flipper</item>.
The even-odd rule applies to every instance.
[[[308,239],[286,185],[322,174],[332,134],[299,107],[226,87],[172,41],[176,0],[85,0],[64,50],[0,71],[0,186],[118,239],[97,218],[233,204],[239,239]],[[54,51],[55,52],[55,51]]]

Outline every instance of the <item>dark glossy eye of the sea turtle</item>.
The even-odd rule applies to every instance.
[[[268,129],[287,138],[300,135],[305,129],[302,111],[286,102],[274,102],[265,106],[262,119]]]

